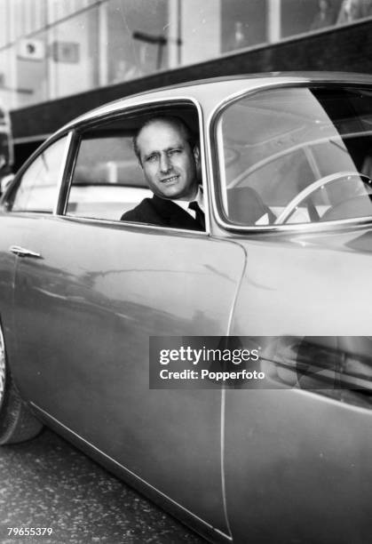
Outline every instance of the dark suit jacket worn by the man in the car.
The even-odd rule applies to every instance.
[[[178,204],[171,200],[154,195],[145,198],[138,206],[123,213],[122,221],[149,223],[159,227],[188,228],[188,230],[204,230],[198,221]]]

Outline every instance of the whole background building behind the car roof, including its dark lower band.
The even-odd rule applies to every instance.
[[[372,72],[372,0],[0,0],[15,167],[61,124],[132,92],[273,70]]]

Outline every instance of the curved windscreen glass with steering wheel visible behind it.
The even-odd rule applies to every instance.
[[[227,220],[269,225],[372,216],[372,92],[283,88],[219,117]]]

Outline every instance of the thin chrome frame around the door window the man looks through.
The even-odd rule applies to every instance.
[[[197,115],[198,115],[198,124],[199,124],[199,143],[200,143],[200,152],[201,152],[201,164],[202,164],[202,189],[203,189],[203,197],[204,197],[204,210],[205,210],[205,230],[201,230],[201,231],[198,231],[198,230],[188,230],[186,228],[170,228],[170,227],[162,227],[162,226],[152,226],[152,225],[147,225],[147,224],[144,224],[144,223],[135,223],[134,221],[121,221],[121,220],[101,220],[99,218],[95,219],[95,218],[80,218],[78,216],[71,216],[71,215],[66,215],[66,209],[67,209],[67,201],[68,201],[68,195],[69,195],[69,190],[70,190],[70,187],[71,187],[71,181],[72,181],[72,175],[73,175],[73,167],[71,168],[71,172],[69,172],[69,175],[68,175],[68,180],[66,181],[68,183],[68,188],[64,188],[64,190],[66,190],[66,193],[65,193],[65,197],[63,199],[63,202],[59,202],[56,206],[56,211],[58,209],[60,210],[63,210],[62,213],[60,214],[57,214],[59,217],[67,217],[68,219],[70,218],[74,218],[74,219],[82,219],[82,220],[93,220],[93,221],[101,221],[102,223],[105,223],[105,224],[121,224],[121,225],[125,225],[125,224],[131,224],[131,225],[136,225],[136,226],[139,226],[139,227],[146,227],[146,228],[160,228],[160,229],[168,229],[170,231],[178,231],[178,232],[193,232],[193,233],[199,233],[199,234],[202,234],[202,235],[207,235],[207,236],[210,236],[210,212],[211,212],[211,208],[210,208],[210,197],[209,197],[209,191],[208,191],[208,180],[209,180],[209,176],[208,176],[208,168],[207,168],[207,155],[206,155],[206,147],[205,147],[205,131],[204,131],[204,117],[203,117],[203,111],[202,111],[202,106],[200,104],[200,102],[198,100],[196,100],[194,97],[190,97],[190,96],[173,96],[173,97],[163,97],[163,98],[158,98],[158,99],[154,99],[154,98],[149,98],[149,97],[146,97],[144,98],[143,100],[139,100],[139,102],[137,102],[136,104],[130,104],[128,106],[123,106],[121,105],[120,108],[118,108],[118,105],[115,104],[115,109],[110,111],[109,110],[109,107],[107,107],[108,111],[103,111],[99,116],[95,116],[94,114],[91,114],[91,116],[87,116],[88,118],[84,118],[81,122],[78,122],[76,124],[69,124],[67,125],[68,128],[69,128],[69,134],[73,134],[75,132],[79,132],[79,136],[80,136],[80,139],[81,139],[81,136],[82,136],[82,132],[84,129],[88,128],[88,127],[91,127],[92,125],[94,124],[97,124],[97,123],[101,123],[101,122],[104,122],[104,121],[109,121],[109,120],[114,120],[115,118],[119,117],[119,116],[124,116],[124,115],[128,115],[128,114],[131,114],[131,113],[136,113],[142,109],[142,108],[146,108],[146,106],[150,106],[150,105],[153,105],[154,108],[157,107],[158,104],[162,105],[163,103],[168,103],[170,105],[177,105],[177,102],[183,102],[184,104],[185,103],[189,103],[190,105],[193,105],[194,108],[196,108],[196,111],[197,111]],[[111,108],[113,108],[113,105],[111,105]],[[64,127],[64,130],[66,130],[67,127]],[[71,140],[70,140],[71,141]],[[75,156],[74,156],[74,159],[73,159],[73,163],[75,164],[76,162],[76,158],[77,158],[77,155],[78,155],[78,149],[79,149],[79,146],[76,147],[76,152],[75,152]],[[67,165],[68,166],[68,165]],[[61,185],[61,189],[63,188],[63,184]],[[60,193],[60,191],[59,191]]]

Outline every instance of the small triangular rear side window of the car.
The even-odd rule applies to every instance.
[[[12,192],[8,209],[12,209],[12,212],[53,211],[58,199],[66,146],[67,136],[51,144],[36,157]]]

